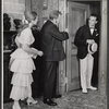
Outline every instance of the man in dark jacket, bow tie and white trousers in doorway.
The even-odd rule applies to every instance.
[[[92,74],[95,52],[89,51],[89,45],[97,43],[98,34],[95,25],[97,24],[97,15],[90,14],[88,24],[80,27],[76,32],[74,44],[77,47],[77,58],[80,59],[81,86],[82,92],[87,93],[87,89],[96,90],[93,87]]]

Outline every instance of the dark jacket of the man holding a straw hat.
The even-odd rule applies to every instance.
[[[94,33],[92,35],[89,26],[84,25],[77,29],[74,39],[74,45],[77,47],[77,57],[80,59],[84,59],[88,53],[87,44],[86,44],[87,39],[94,39],[97,43],[98,34],[97,34],[97,29],[94,29]]]

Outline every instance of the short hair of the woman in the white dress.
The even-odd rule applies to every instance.
[[[25,19],[26,19],[28,22],[32,22],[33,20],[35,20],[35,19],[37,17],[37,13],[34,12],[34,11],[31,11],[31,12],[25,11],[25,12],[24,12],[24,15],[25,15]]]

